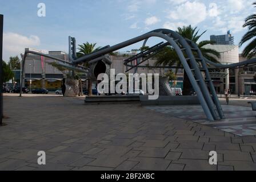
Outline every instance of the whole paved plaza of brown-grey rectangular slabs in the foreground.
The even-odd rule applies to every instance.
[[[256,170],[249,100],[230,101],[226,120],[209,123],[201,106],[83,99],[5,94],[0,170]],[[45,166],[37,163],[38,151],[46,152]],[[218,165],[209,164],[209,151],[217,151]]]

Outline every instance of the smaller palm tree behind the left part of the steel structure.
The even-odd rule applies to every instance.
[[[82,57],[82,56],[87,55],[87,54],[89,54],[91,52],[97,51],[99,48],[101,48],[101,47],[96,47],[96,44],[97,43],[86,42],[86,43],[83,43],[81,45],[78,45],[79,52],[77,53],[77,57]],[[89,65],[87,63],[83,63],[83,66],[89,67]],[[88,92],[89,92],[89,96],[93,95],[92,90],[91,90],[91,84],[92,84],[91,79],[88,77]]]

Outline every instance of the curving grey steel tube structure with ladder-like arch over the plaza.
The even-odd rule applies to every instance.
[[[203,110],[205,111],[207,119],[210,121],[215,121],[219,119],[224,119],[225,116],[222,111],[222,107],[219,104],[219,100],[217,97],[217,94],[214,89],[213,82],[210,77],[209,70],[207,68],[207,64],[211,64],[214,67],[218,68],[239,68],[247,65],[253,65],[256,64],[256,59],[244,61],[242,63],[235,63],[230,65],[222,65],[222,64],[215,64],[202,56],[202,53],[200,49],[197,47],[197,44],[193,43],[189,39],[183,38],[181,35],[179,35],[177,32],[167,29],[158,29],[154,31],[150,31],[146,34],[143,34],[141,36],[138,36],[136,38],[127,40],[125,42],[116,44],[115,46],[105,46],[101,49],[94,51],[92,53],[89,53],[88,55],[82,56],[80,58],[77,57],[77,54],[75,52],[75,38],[69,37],[69,59],[70,62],[66,62],[61,59],[56,59],[54,57],[50,57],[47,55],[44,55],[42,53],[33,52],[33,51],[26,51],[25,55],[23,56],[22,61],[22,75],[24,73],[24,64],[27,53],[34,53],[36,55],[42,55],[46,57],[50,57],[51,59],[55,59],[60,61],[63,66],[77,69],[77,70],[83,70],[87,71],[87,68],[82,67],[79,64],[82,63],[89,63],[94,64],[98,61],[103,61],[105,64],[111,64],[111,60],[108,57],[108,54],[114,51],[117,51],[118,49],[121,49],[123,47],[130,46],[131,44],[140,42],[144,40],[143,46],[146,46],[147,40],[151,37],[158,37],[166,40],[166,43],[159,43],[145,51],[142,51],[138,55],[135,55],[129,59],[127,59],[124,64],[127,67],[127,71],[130,70],[130,68],[135,68],[135,71],[137,68],[149,68],[147,66],[140,65],[143,61],[150,59],[150,57],[156,55],[158,52],[161,51],[161,49],[165,46],[171,46],[175,49],[177,52],[177,55],[179,59],[181,60],[181,63],[183,65],[183,69],[185,69],[187,76],[189,77],[189,80],[191,82],[191,85],[193,86],[195,92],[197,93],[198,99],[202,105]],[[187,57],[185,57],[187,55]],[[142,61],[140,61],[142,59]],[[131,61],[137,60],[137,64],[133,65]],[[190,64],[188,64],[190,63]],[[128,68],[130,67],[130,68]],[[155,66],[153,66],[155,67]],[[94,67],[95,68],[95,67]],[[157,67],[157,68],[172,68],[172,67]],[[205,77],[202,75],[202,72],[205,73]],[[23,79],[22,79],[23,80]],[[209,89],[207,88],[209,86]]]

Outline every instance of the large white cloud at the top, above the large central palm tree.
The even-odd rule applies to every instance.
[[[196,25],[203,22],[207,17],[206,6],[200,2],[186,2],[177,6],[176,10],[170,11],[167,18],[185,20],[188,24]]]

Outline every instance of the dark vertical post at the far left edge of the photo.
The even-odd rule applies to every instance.
[[[0,102],[1,102],[1,117],[0,125],[2,125],[3,119],[3,15],[0,14]]]

